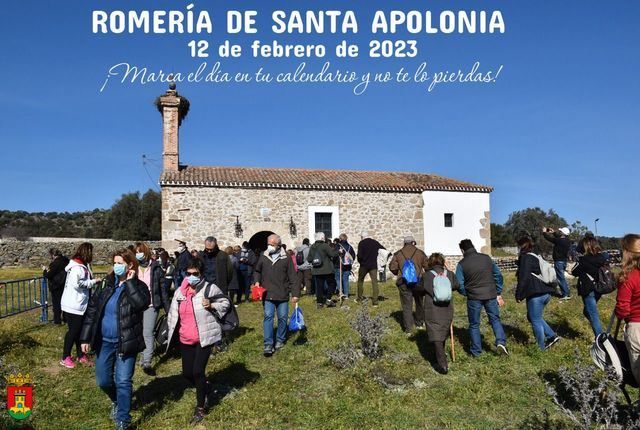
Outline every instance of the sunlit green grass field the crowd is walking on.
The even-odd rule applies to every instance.
[[[506,276],[513,284],[513,275]],[[370,287],[365,289],[370,292]],[[308,341],[287,346],[271,358],[262,357],[262,309],[257,303],[238,308],[242,328],[228,351],[213,356],[207,367],[220,395],[202,425],[196,428],[234,429],[496,429],[540,428],[536,415],[550,414],[552,428],[565,425],[545,391],[544,376],[562,365],[571,365],[577,348],[587,361],[592,340],[582,303],[553,300],[546,319],[564,339],[542,353],[534,344],[523,303],[505,292],[502,320],[511,356],[495,355],[493,334],[483,317],[486,353],[473,359],[468,348],[466,306],[455,297],[457,360],[450,373],[437,374],[428,358],[432,352],[424,332],[407,339],[396,321],[400,310],[395,286],[384,285],[388,300],[371,312],[388,317],[383,341],[385,356],[376,362],[363,360],[355,368],[334,368],[323,350],[347,339],[355,340],[348,321],[358,305],[316,310],[310,297],[301,306],[309,327]],[[603,297],[603,323],[614,296]],[[93,369],[63,369],[58,365],[64,327],[40,325],[38,313],[0,320],[0,355],[35,379],[36,428],[111,428],[109,401],[96,387]],[[136,370],[133,418],[139,429],[189,427],[195,405],[194,389],[180,376],[176,355],[158,356],[158,376]],[[384,381],[381,383],[380,381]],[[4,394],[4,393],[3,393]]]

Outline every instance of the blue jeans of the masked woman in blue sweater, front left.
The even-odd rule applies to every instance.
[[[96,357],[96,382],[112,402],[118,405],[116,421],[131,422],[131,397],[136,355],[118,354],[117,342],[102,341]]]

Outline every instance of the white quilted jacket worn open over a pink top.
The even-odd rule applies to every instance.
[[[186,282],[187,280],[185,279],[183,281],[183,285]],[[216,312],[218,315],[225,315],[227,310],[229,310],[229,307],[233,306],[229,298],[220,290],[220,288],[215,284],[208,284],[210,285],[209,299],[215,296],[220,298],[211,300],[211,310],[205,309],[202,306],[202,299],[204,297],[204,292],[207,289],[207,284],[208,283],[205,281],[192,299],[193,313],[195,314],[196,325],[198,326],[198,337],[200,338],[201,347],[213,345],[214,343],[222,340],[222,327],[220,327],[220,323],[213,312]],[[180,319],[180,302],[184,300],[186,300],[186,297],[182,294],[182,288],[178,288],[173,295],[171,308],[169,308],[169,315],[167,316],[167,328],[169,329],[167,351],[171,346],[171,338],[174,336],[174,331],[178,325],[178,320]]]

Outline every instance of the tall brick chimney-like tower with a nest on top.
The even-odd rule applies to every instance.
[[[156,100],[158,110],[162,114],[162,166],[165,171],[179,170],[178,135],[182,123],[182,99],[176,91],[176,84],[171,82],[167,92]]]

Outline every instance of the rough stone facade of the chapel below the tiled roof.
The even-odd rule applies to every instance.
[[[221,247],[241,244],[260,231],[273,231],[283,243],[297,246],[309,237],[309,206],[337,206],[340,233],[357,246],[360,232],[367,230],[390,250],[402,246],[412,234],[423,247],[422,196],[419,193],[380,193],[285,189],[240,189],[214,187],[173,187],[162,189],[162,239],[173,250],[174,239],[185,240],[190,248],[201,249],[204,238],[215,236]],[[267,217],[261,208],[270,209]],[[236,216],[243,228],[235,236]],[[289,234],[293,219],[297,236]],[[313,242],[313,238],[310,238]]]

